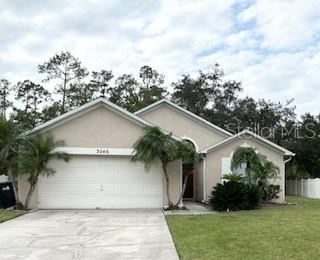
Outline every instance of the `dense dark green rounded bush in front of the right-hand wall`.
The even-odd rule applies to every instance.
[[[238,181],[217,184],[209,200],[211,207],[217,211],[256,209],[260,202],[261,189],[258,186]]]

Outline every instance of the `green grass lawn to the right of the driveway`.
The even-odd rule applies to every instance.
[[[320,200],[214,215],[170,215],[181,259],[319,259]]]

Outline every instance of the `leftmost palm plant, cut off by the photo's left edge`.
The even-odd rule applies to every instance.
[[[7,172],[8,177],[12,181],[13,192],[16,199],[16,206],[22,207],[18,193],[18,170],[17,162],[19,150],[26,142],[21,131],[11,120],[0,117],[0,163],[1,168]]]

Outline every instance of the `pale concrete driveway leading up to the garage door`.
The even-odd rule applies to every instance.
[[[178,259],[160,210],[40,210],[0,224],[0,259]]]

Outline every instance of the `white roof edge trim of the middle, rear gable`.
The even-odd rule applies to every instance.
[[[157,101],[157,102],[155,102],[145,108],[140,109],[139,111],[135,112],[134,114],[137,116],[141,116],[141,115],[148,113],[148,112],[150,112],[150,111],[152,111],[162,105],[168,105],[169,107],[173,108],[174,110],[185,114],[186,116],[188,116],[192,120],[206,126],[207,128],[209,128],[211,130],[214,130],[215,132],[218,132],[224,136],[232,136],[232,133],[228,132],[227,130],[224,130],[219,126],[212,124],[211,122],[209,122],[209,121],[203,119],[202,117],[197,116],[196,114],[174,104],[173,102],[171,102],[167,99],[161,99],[161,100],[159,100],[159,101]]]

